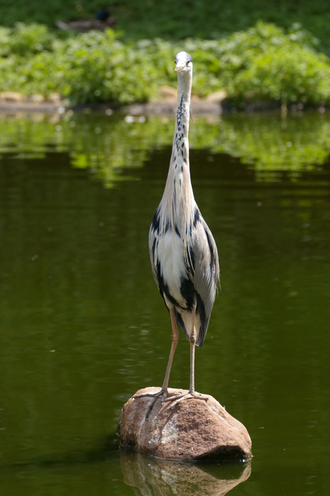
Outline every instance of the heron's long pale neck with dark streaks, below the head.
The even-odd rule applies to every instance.
[[[194,194],[189,171],[189,116],[192,73],[177,75],[177,111],[172,156],[162,199],[172,230],[187,231],[194,210]],[[165,220],[165,219],[164,219]]]

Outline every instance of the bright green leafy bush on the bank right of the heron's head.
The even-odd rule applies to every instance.
[[[272,24],[235,33],[221,43],[224,85],[237,101],[319,104],[329,101],[329,58],[299,26],[288,34]]]

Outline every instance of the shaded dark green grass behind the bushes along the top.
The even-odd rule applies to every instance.
[[[96,16],[103,3],[99,0],[1,0],[1,24],[41,23],[50,28],[56,21]],[[330,47],[330,9],[324,0],[107,0],[116,18],[116,30],[125,38],[218,39],[245,30],[258,21],[289,28],[300,23]]]

